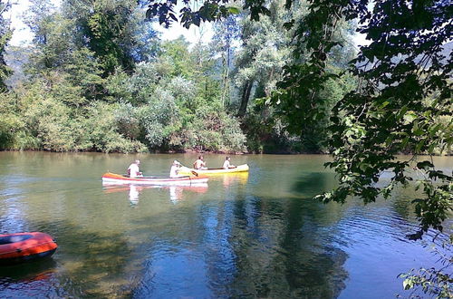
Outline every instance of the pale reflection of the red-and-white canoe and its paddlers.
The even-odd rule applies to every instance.
[[[169,190],[169,200],[173,204],[184,200],[184,192],[206,193],[207,183],[198,183],[190,186],[137,186],[137,185],[117,185],[111,183],[102,183],[105,193],[128,192],[131,206],[137,206],[140,201],[140,192],[144,189],[166,189]]]

